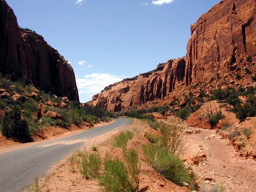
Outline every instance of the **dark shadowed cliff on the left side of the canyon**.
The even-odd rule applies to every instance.
[[[46,92],[79,101],[73,68],[41,35],[20,30],[4,0],[0,3],[0,72],[15,74]]]

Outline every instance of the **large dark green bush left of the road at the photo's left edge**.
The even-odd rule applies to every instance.
[[[1,133],[7,138],[31,139],[27,121],[21,119],[19,106],[14,106],[11,111],[5,111],[1,123]]]

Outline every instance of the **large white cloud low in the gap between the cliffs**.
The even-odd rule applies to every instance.
[[[123,80],[121,78],[118,78],[116,75],[98,74],[98,73],[85,75],[84,77],[85,77],[84,79],[76,79],[76,85],[78,89],[83,89],[80,91],[81,94],[82,93],[99,93],[106,86],[109,86],[110,84]]]

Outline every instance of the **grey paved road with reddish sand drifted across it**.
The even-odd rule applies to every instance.
[[[35,178],[43,176],[52,165],[83,146],[86,140],[117,128],[125,128],[132,122],[132,119],[120,118],[108,125],[89,129],[77,135],[40,142],[40,144],[0,154],[0,192],[22,191],[26,185],[32,184]]]

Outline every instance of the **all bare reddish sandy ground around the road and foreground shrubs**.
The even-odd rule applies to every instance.
[[[185,162],[185,165],[193,170],[198,176],[197,182],[201,188],[209,189],[211,185],[218,184],[226,187],[226,192],[255,192],[256,191],[256,161],[251,158],[240,157],[234,151],[234,147],[229,144],[228,139],[223,139],[216,129],[202,129],[188,127],[185,123],[180,125],[185,129],[196,129],[199,133],[185,134],[187,144],[182,157],[195,157],[196,154],[205,154],[206,158],[200,159],[198,165]],[[134,138],[127,144],[127,148],[136,148],[141,161],[140,174],[140,192],[142,191],[189,191],[186,187],[177,187],[172,182],[167,181],[160,174],[155,172],[143,160],[142,145],[146,144],[147,138],[145,132],[154,132],[146,121],[135,120],[125,130],[133,131]],[[73,134],[69,132],[66,134]],[[116,133],[118,134],[118,133]],[[105,154],[110,152],[113,155],[122,156],[120,148],[110,148],[108,141],[113,138],[113,134],[102,135],[94,140],[89,141],[86,150],[90,151],[92,146],[97,146],[98,153]],[[3,142],[2,142],[3,144]],[[20,147],[21,144],[14,145],[13,142],[5,146],[14,148]],[[3,146],[3,145],[2,145]],[[1,147],[6,149],[6,147]],[[0,151],[1,151],[0,150]],[[67,164],[67,159],[63,159],[51,167],[44,178],[39,178],[39,185],[43,187],[42,191],[50,189],[51,192],[64,191],[100,191],[96,180],[85,180],[79,171],[71,173]],[[26,190],[25,190],[26,191]]]

